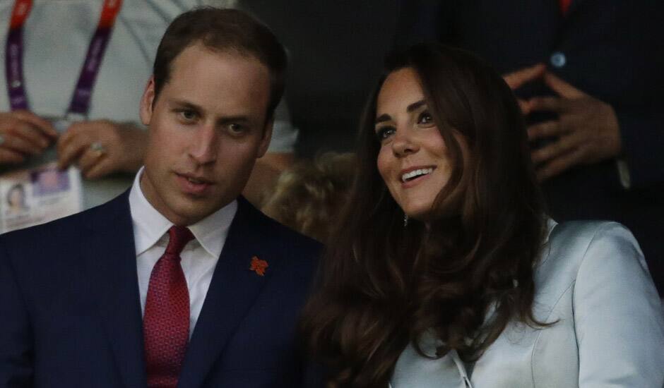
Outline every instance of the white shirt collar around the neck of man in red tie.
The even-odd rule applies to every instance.
[[[145,167],[136,173],[134,184],[129,192],[129,209],[131,220],[134,223],[134,243],[136,256],[141,255],[155,245],[168,229],[173,226],[166,217],[156,210],[141,190],[141,175]],[[189,225],[189,230],[196,237],[196,241],[213,257],[219,257],[223,248],[230,223],[237,212],[237,200],[230,202],[220,210],[201,219],[196,224]]]

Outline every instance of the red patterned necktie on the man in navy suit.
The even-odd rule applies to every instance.
[[[194,235],[184,226],[168,230],[169,241],[150,274],[143,337],[148,387],[177,385],[189,341],[189,291],[180,266],[180,253]]]

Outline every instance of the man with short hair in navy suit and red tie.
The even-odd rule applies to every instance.
[[[240,11],[168,28],[131,190],[0,236],[0,387],[301,387],[319,245],[239,196],[268,147],[285,51]]]

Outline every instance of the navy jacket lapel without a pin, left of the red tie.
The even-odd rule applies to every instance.
[[[129,191],[93,210],[83,234],[83,257],[99,295],[109,345],[126,387],[145,387],[143,320],[138,296]]]

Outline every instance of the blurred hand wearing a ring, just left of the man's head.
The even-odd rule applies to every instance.
[[[135,172],[143,164],[148,133],[108,120],[73,123],[58,140],[58,166],[78,165],[85,178]]]

